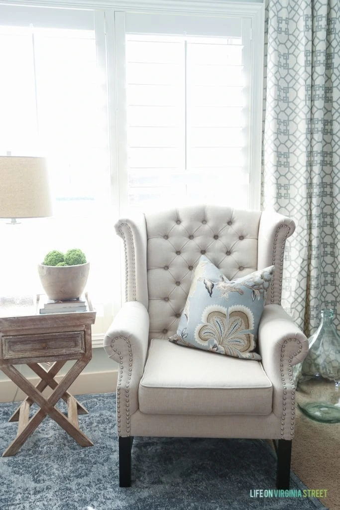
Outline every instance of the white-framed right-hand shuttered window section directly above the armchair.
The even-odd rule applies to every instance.
[[[254,19],[116,12],[114,21],[121,204],[259,207]]]

